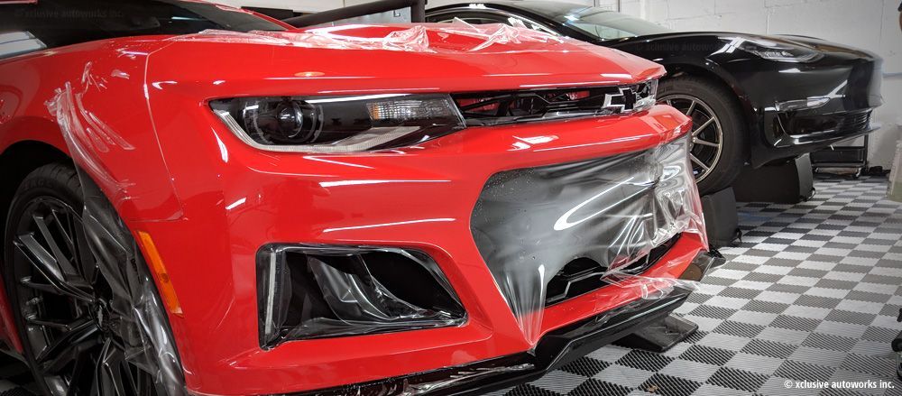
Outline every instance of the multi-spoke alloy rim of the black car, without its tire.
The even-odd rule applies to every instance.
[[[723,154],[723,127],[720,120],[711,106],[697,97],[668,95],[661,97],[658,103],[673,106],[692,118],[689,161],[692,161],[695,180],[704,180],[721,161]]]

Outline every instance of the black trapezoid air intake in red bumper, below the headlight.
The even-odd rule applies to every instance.
[[[271,244],[257,253],[260,345],[464,325],[428,254],[391,247]]]

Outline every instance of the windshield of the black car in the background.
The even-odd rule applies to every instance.
[[[554,19],[558,23],[564,23],[570,28],[600,40],[671,32],[663,26],[644,19],[595,7],[574,8],[566,14],[554,15]]]

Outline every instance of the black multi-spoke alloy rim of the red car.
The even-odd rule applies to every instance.
[[[130,303],[115,297],[100,271],[79,213],[52,197],[32,199],[22,213],[14,292],[39,381],[54,396],[161,394],[131,358]]]

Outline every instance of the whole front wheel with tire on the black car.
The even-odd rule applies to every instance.
[[[658,102],[683,114],[691,111],[692,164],[699,192],[704,195],[730,187],[749,158],[749,134],[736,95],[711,80],[681,76],[660,82]]]

